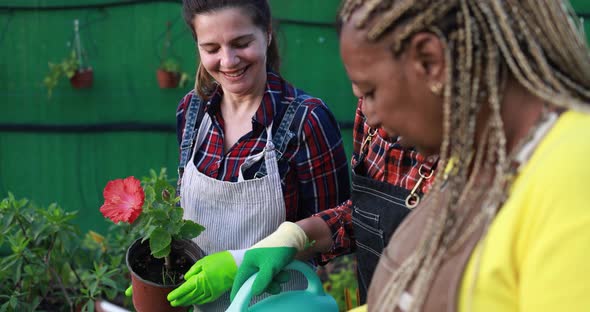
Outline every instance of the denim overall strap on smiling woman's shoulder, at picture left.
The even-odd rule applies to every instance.
[[[197,94],[193,94],[191,102],[185,113],[184,131],[182,134],[182,142],[180,143],[180,162],[178,163],[178,187],[176,192],[180,192],[180,182],[184,173],[184,167],[191,158],[192,145],[197,134],[195,125],[199,119],[198,115],[201,111],[201,99]],[[177,194],[178,195],[178,194]]]

